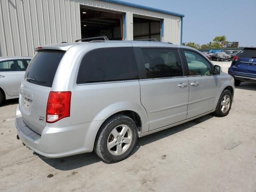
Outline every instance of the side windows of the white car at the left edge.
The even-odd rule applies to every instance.
[[[0,62],[0,71],[26,71],[22,60],[8,60]]]

